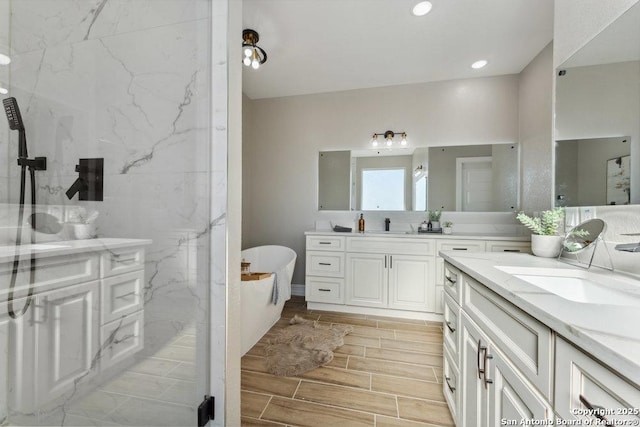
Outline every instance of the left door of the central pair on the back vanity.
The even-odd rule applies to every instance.
[[[387,306],[388,257],[382,254],[347,254],[347,304]]]

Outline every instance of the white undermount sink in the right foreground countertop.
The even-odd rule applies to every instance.
[[[640,307],[638,284],[629,283],[623,278],[570,268],[511,266],[496,268],[569,301]],[[630,292],[624,290],[630,290]]]

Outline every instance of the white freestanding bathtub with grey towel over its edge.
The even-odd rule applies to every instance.
[[[277,304],[272,303],[274,275],[241,283],[242,355],[249,351],[280,319],[284,302],[291,298],[291,278],[296,258],[295,251],[285,246],[257,246],[242,251],[242,259],[251,263],[252,272],[276,273],[280,283]]]

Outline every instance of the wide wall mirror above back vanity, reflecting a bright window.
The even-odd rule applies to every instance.
[[[518,144],[321,151],[319,210],[510,212]]]

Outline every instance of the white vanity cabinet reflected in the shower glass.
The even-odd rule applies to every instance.
[[[6,296],[0,304],[0,335],[8,332],[10,406],[17,411],[77,397],[87,380],[143,348],[146,243],[95,244],[81,253],[38,258],[34,294],[24,315],[10,319]],[[10,264],[0,264],[0,273]],[[21,279],[28,285],[28,277]],[[16,287],[19,295],[23,288]],[[16,298],[14,310],[20,312],[25,303],[24,295]]]

